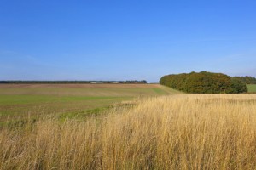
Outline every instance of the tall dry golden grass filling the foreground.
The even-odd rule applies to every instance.
[[[0,131],[0,169],[254,169],[255,94],[178,94]]]

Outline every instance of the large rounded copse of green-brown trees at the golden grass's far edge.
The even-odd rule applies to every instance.
[[[247,87],[238,78],[207,71],[171,74],[161,77],[160,84],[191,94],[240,94]]]

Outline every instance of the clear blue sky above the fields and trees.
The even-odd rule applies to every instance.
[[[256,77],[256,1],[0,1],[0,80],[190,71]]]

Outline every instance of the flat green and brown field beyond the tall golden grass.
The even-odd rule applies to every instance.
[[[131,99],[177,93],[159,84],[2,84],[0,120],[86,112]]]

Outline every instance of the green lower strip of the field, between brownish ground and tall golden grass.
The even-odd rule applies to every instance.
[[[34,96],[10,95],[0,97],[0,121],[5,116],[26,116],[57,114],[60,112],[86,111],[94,108],[113,105],[120,101],[131,100],[131,97],[113,96]]]

